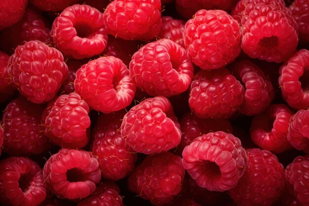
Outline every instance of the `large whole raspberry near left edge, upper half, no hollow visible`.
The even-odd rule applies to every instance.
[[[54,98],[68,67],[57,49],[41,41],[28,41],[17,46],[9,58],[8,73],[21,94],[34,103],[43,103]]]

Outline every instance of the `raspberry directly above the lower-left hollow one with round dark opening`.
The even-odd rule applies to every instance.
[[[64,94],[47,105],[42,124],[45,135],[63,148],[82,148],[89,140],[89,107],[77,93]]]

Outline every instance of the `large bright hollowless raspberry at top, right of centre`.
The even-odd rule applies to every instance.
[[[199,10],[187,21],[183,34],[193,63],[204,70],[223,67],[240,53],[237,21],[223,10]]]

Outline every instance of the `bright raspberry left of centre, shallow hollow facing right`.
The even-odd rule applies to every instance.
[[[100,57],[77,70],[75,90],[94,110],[110,113],[129,106],[135,85],[129,70],[113,56]]]

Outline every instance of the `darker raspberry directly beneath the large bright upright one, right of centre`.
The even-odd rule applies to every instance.
[[[243,102],[244,87],[226,68],[199,71],[190,87],[189,106],[199,118],[228,119]]]

